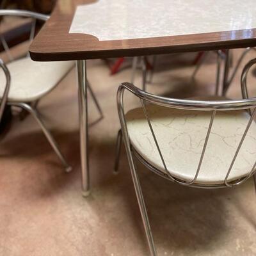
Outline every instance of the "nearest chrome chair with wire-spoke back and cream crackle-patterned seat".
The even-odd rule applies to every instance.
[[[248,99],[246,77],[243,98],[170,99],[143,92],[133,84],[118,88],[117,105],[124,144],[150,255],[157,255],[134,157],[149,170],[183,186],[230,188],[256,172],[256,98]],[[124,92],[141,107],[125,114]]]

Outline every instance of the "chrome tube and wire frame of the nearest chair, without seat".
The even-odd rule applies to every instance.
[[[238,177],[236,180],[230,180],[228,179],[230,177],[230,173],[232,171],[232,168],[234,166],[234,163],[237,159],[237,155],[239,154],[239,151],[241,150],[241,147],[244,143],[244,140],[246,138],[246,135],[248,134],[248,131],[252,125],[255,119],[256,115],[256,98],[248,99],[248,92],[246,88],[246,77],[248,74],[248,70],[250,67],[252,67],[253,64],[256,63],[256,59],[250,61],[243,69],[242,76],[241,76],[241,89],[243,92],[243,97],[244,99],[241,100],[213,100],[213,101],[205,101],[205,100],[190,100],[190,99],[170,99],[167,97],[161,97],[157,95],[152,95],[150,93],[144,92],[143,90],[140,90],[136,86],[134,86],[131,83],[122,83],[120,84],[118,88],[118,93],[117,93],[117,106],[118,106],[118,115],[120,118],[120,124],[122,127],[122,135],[124,136],[124,144],[125,144],[125,149],[127,152],[127,157],[129,161],[129,166],[131,169],[131,174],[132,174],[132,180],[134,182],[134,188],[136,190],[136,196],[138,199],[138,203],[140,206],[140,211],[141,211],[141,216],[143,220],[143,225],[145,228],[145,232],[147,235],[147,241],[148,245],[150,248],[150,253],[151,255],[156,256],[156,247],[154,245],[154,240],[152,237],[152,232],[150,229],[150,224],[148,221],[148,216],[147,216],[147,209],[145,207],[145,202],[143,199],[143,194],[141,191],[141,186],[140,186],[140,180],[138,178],[138,173],[136,170],[136,165],[134,163],[133,156],[136,156],[141,163],[145,164],[147,168],[152,170],[153,172],[157,173],[158,175],[161,175],[161,177],[164,177],[165,179],[168,179],[172,182],[175,182],[177,184],[181,184],[184,186],[192,186],[192,187],[197,187],[197,188],[227,188],[227,187],[232,187],[236,186],[238,184],[242,184],[245,182],[247,179],[252,177],[253,174],[256,172],[256,159],[253,160],[255,161],[254,164],[252,164],[252,167],[250,167],[250,170],[248,172],[246,171],[246,175],[243,175],[243,177]],[[141,156],[140,152],[136,150],[132,146],[131,143],[131,136],[129,134],[129,127],[127,125],[127,116],[125,115],[125,110],[124,110],[124,92],[129,91],[131,92],[135,97],[138,97],[140,100],[141,104],[141,109],[143,110],[144,114],[144,120],[145,123],[148,125],[148,131],[150,131],[150,138],[152,138],[152,147],[156,147],[157,154],[159,154],[159,157],[161,159],[161,163],[163,164],[163,169],[159,170],[159,168],[156,168],[156,166],[153,166],[152,164],[148,163],[147,159],[145,159],[143,156]],[[175,177],[175,175],[170,172],[167,168],[166,164],[166,159],[164,159],[163,152],[161,151],[161,145],[159,145],[159,141],[157,140],[157,136],[155,134],[153,125],[152,125],[152,120],[150,118],[150,115],[148,113],[148,106],[149,105],[156,105],[156,106],[163,106],[165,108],[173,108],[173,109],[183,109],[186,111],[208,111],[211,113],[210,120],[209,120],[209,125],[207,128],[206,136],[204,138],[204,143],[202,143],[202,149],[199,157],[199,161],[197,164],[197,168],[195,170],[195,176],[193,179],[180,179]],[[241,111],[244,110],[244,112],[249,113],[247,116],[248,120],[247,124],[244,125],[244,131],[243,134],[241,135],[241,138],[239,139],[239,143],[237,145],[237,148],[234,150],[234,155],[232,156],[231,162],[228,164],[227,168],[227,173],[224,175],[224,179],[221,180],[221,184],[200,184],[197,182],[198,175],[200,174],[200,170],[202,167],[202,163],[204,162],[204,156],[205,152],[207,151],[207,145],[209,143],[209,138],[211,138],[211,130],[212,130],[212,125],[214,124],[214,120],[216,118],[216,113],[219,113],[220,111],[225,111],[228,113],[228,111]],[[149,139],[148,139],[149,140]]]

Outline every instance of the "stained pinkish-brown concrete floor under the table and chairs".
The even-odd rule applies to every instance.
[[[241,50],[234,51],[236,54]],[[211,54],[191,83],[195,54],[159,58],[148,91],[170,97],[214,92]],[[249,54],[243,64],[253,58]],[[228,96],[241,98],[239,75]],[[38,108],[73,166],[64,173],[31,116],[12,129],[0,147],[0,255],[149,255],[124,150],[113,175],[118,84],[131,69],[109,76],[104,61],[88,61],[88,77],[104,111],[89,100],[92,194],[81,196],[76,72],[42,99]],[[249,79],[250,83],[252,79]],[[254,81],[255,83],[255,81]],[[141,86],[140,72],[136,85]],[[256,88],[250,83],[254,95]],[[138,100],[128,97],[127,109]],[[141,186],[159,255],[256,255],[256,197],[253,181],[234,189],[185,188],[161,179],[138,163]]]

